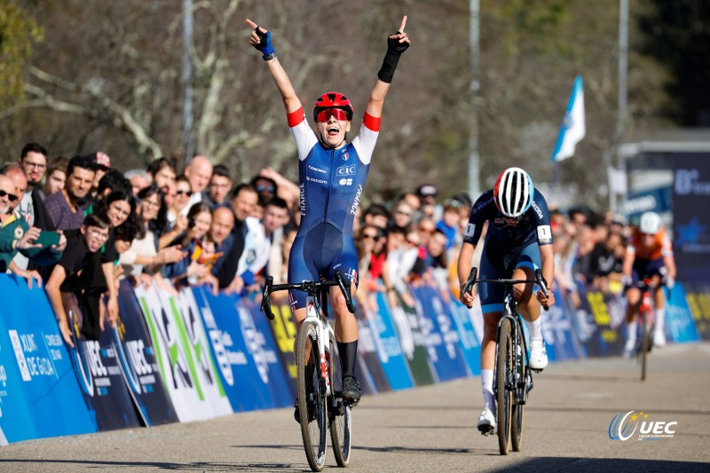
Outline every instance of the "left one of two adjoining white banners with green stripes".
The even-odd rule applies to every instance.
[[[157,281],[150,288],[139,286],[135,293],[177,418],[180,422],[193,422],[214,417],[207,398],[201,389],[198,390],[200,380],[193,356],[177,327],[177,307],[173,310],[170,305],[163,305],[162,290],[157,286]],[[174,289],[172,292],[175,294]]]

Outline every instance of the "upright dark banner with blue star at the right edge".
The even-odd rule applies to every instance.
[[[710,153],[673,155],[673,249],[678,280],[710,281]]]

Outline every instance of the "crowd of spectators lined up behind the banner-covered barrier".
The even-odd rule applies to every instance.
[[[98,338],[118,317],[121,280],[241,295],[257,294],[267,276],[287,280],[298,185],[271,168],[241,182],[200,155],[183,169],[165,157],[146,169],[115,164],[102,152],[50,157],[29,143],[0,169],[0,264],[30,287],[43,286],[67,343],[67,304],[82,307],[83,335]],[[438,197],[434,185],[421,185],[359,209],[357,300],[366,313],[375,310],[376,292],[390,304],[414,304],[409,291],[417,284],[458,296],[456,256],[472,201],[467,193]],[[580,285],[621,289],[622,218],[554,210],[552,228],[557,284],[572,301]]]

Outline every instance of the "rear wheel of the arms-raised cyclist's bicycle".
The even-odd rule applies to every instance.
[[[333,445],[335,462],[339,467],[347,468],[351,453],[351,407],[343,403],[343,374],[341,372],[340,354],[335,337],[330,338],[330,403],[328,404],[328,420],[330,423],[330,443]]]

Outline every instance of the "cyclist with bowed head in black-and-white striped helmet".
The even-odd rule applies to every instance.
[[[473,253],[486,222],[488,230],[479,265],[480,279],[534,280],[534,271],[540,268],[547,281],[548,297],[541,290],[533,297],[533,284],[518,285],[515,288],[517,308],[530,333],[530,367],[541,370],[548,366],[548,355],[542,339],[540,305],[549,307],[555,304],[552,293],[555,261],[548,204],[525,170],[505,169],[498,176],[493,189],[482,193],[473,204],[459,254],[461,289],[469,278]],[[503,311],[503,286],[477,284],[470,293],[461,290],[461,303],[470,307],[477,293],[480,295],[484,319],[481,343],[484,409],[478,418],[477,428],[486,433],[495,430],[493,364],[495,336]]]

